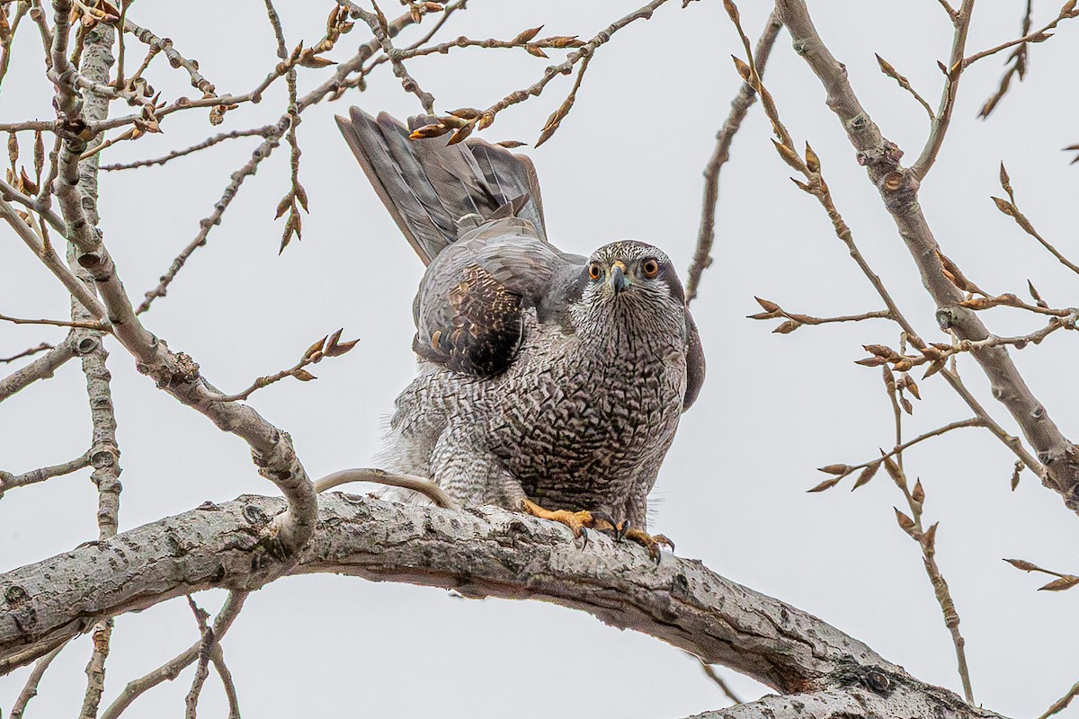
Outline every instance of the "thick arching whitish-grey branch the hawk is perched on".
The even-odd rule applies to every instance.
[[[794,607],[730,582],[699,562],[596,537],[495,508],[461,511],[324,496],[315,536],[292,573],[455,589],[470,597],[545,599],[587,611],[745,673],[779,691],[865,687],[920,693],[944,716],[965,706],[860,641]],[[264,531],[281,499],[245,496],[123,533],[0,576],[0,673],[46,653],[93,622],[214,586],[258,585],[278,561]],[[46,591],[47,587],[47,591]]]

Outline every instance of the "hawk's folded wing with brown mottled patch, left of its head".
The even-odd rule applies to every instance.
[[[413,305],[412,348],[454,372],[502,372],[523,340],[524,310],[540,303],[564,263],[527,220],[480,225],[427,267]]]

